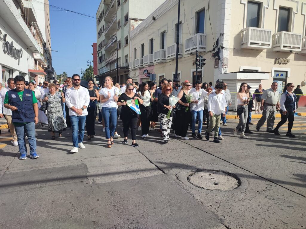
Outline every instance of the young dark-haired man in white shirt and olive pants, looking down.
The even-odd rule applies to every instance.
[[[218,132],[220,126],[221,115],[225,115],[226,100],[224,94],[221,94],[223,90],[223,83],[217,83],[215,86],[216,91],[212,92],[208,96],[207,108],[209,112],[209,127],[205,133],[205,138],[209,140],[209,133],[214,129],[215,136],[214,142],[220,143],[218,139]]]

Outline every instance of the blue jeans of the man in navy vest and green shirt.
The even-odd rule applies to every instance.
[[[25,134],[28,136],[30,154],[36,153],[36,138],[35,138],[35,123],[29,122],[23,125],[15,125],[15,131],[17,134],[17,142],[19,146],[19,152],[21,154],[27,154],[28,149],[25,145]]]

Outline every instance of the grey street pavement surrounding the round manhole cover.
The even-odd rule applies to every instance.
[[[305,228],[306,118],[296,117],[294,139],[285,125],[281,136],[250,125],[254,134],[241,139],[232,134],[237,122],[222,126],[220,144],[173,135],[163,144],[151,129],[146,140],[137,132],[138,148],[121,138],[110,149],[97,125],[75,154],[71,130],[51,140],[39,127],[40,158],[23,161],[2,130],[0,228]],[[188,182],[206,170],[241,184],[211,191]]]

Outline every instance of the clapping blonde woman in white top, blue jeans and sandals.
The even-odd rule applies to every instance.
[[[102,105],[102,115],[105,122],[105,135],[107,138],[107,147],[114,144],[114,133],[117,125],[117,102],[120,91],[113,85],[113,79],[110,76],[105,77],[106,87],[99,91]]]

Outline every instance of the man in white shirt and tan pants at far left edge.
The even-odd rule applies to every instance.
[[[12,134],[13,140],[11,141],[11,143],[13,144],[13,146],[18,146],[18,142],[17,142],[17,135],[15,132],[15,126],[12,122],[12,111],[10,109],[7,109],[5,107],[3,107],[3,102],[4,102],[4,98],[5,98],[5,94],[7,91],[12,90],[15,88],[15,83],[14,83],[14,78],[8,78],[7,80],[7,87],[2,88],[2,90],[0,91],[0,117],[6,119],[7,125],[9,126],[9,130]],[[3,109],[2,109],[3,107]]]

